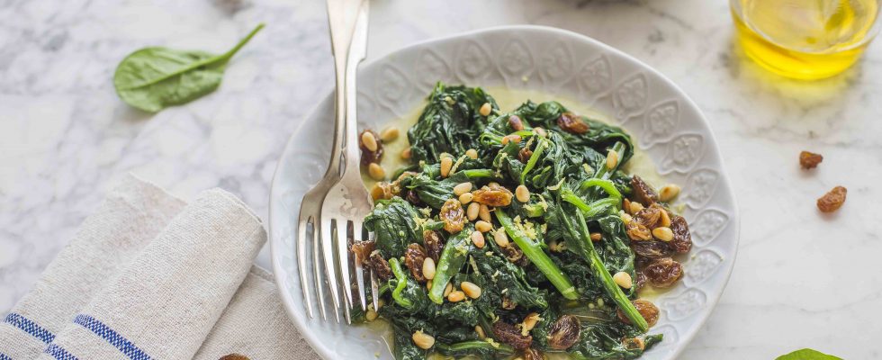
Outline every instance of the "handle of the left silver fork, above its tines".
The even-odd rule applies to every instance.
[[[331,145],[331,158],[326,175],[340,175],[340,157],[346,137],[346,98],[347,98],[347,63],[349,48],[356,29],[358,9],[362,0],[328,0],[328,25],[331,38],[331,53],[334,55],[334,75],[337,80],[335,88],[334,139]],[[357,139],[356,139],[357,143]]]

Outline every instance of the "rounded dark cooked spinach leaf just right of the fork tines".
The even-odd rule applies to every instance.
[[[374,231],[383,257],[401,257],[410,243],[422,243],[422,229],[417,225],[421,217],[410,202],[396,196],[376,202],[374,211],[365,218],[365,228]]]

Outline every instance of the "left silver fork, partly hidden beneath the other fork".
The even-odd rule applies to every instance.
[[[312,311],[312,291],[315,288],[316,299],[319,302],[321,318],[328,320],[327,311],[325,310],[325,294],[322,286],[321,278],[321,260],[320,260],[320,224],[321,224],[321,202],[325,195],[328,194],[331,186],[336,184],[342,173],[341,157],[343,156],[343,143],[345,137],[345,117],[346,117],[346,76],[347,63],[349,62],[349,47],[352,42],[352,36],[356,28],[356,20],[358,8],[362,0],[329,0],[328,1],[328,23],[331,37],[331,50],[334,54],[334,71],[337,75],[337,92],[335,96],[335,112],[337,121],[335,121],[334,138],[331,144],[331,158],[328,170],[318,184],[303,195],[300,209],[300,219],[297,224],[297,266],[300,273],[300,282],[303,291],[303,303],[306,312],[313,317]],[[312,235],[312,265],[313,275],[312,281],[308,279],[307,265],[309,258],[307,257],[307,228]],[[337,284],[334,273],[328,274],[328,283]],[[335,292],[336,293],[336,292]],[[337,315],[339,322],[340,316]]]

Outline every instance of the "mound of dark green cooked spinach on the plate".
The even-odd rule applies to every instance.
[[[612,276],[638,275],[620,215],[634,192],[621,170],[634,153],[623,130],[557,102],[527,101],[503,112],[481,88],[438,83],[408,137],[410,166],[385,184],[396,193],[378,200],[365,219],[392,273],[378,312],[392,322],[396,358],[422,359],[431,351],[505,358],[522,351],[524,341],[560,352],[562,343],[551,340],[558,319],[579,329],[565,343],[577,359],[633,359],[662,341],[647,334],[650,324],[632,302],[636,286],[623,288]],[[609,153],[619,159],[610,167]],[[444,176],[442,154],[456,164]],[[464,183],[473,197],[451,206]],[[518,186],[527,187],[527,197],[517,196]],[[473,235],[479,219],[466,211],[476,208],[472,202],[493,208],[489,217],[479,214],[491,224],[480,236]],[[428,257],[435,271],[423,278]],[[481,292],[451,295],[466,287]],[[534,312],[536,326],[521,330]],[[435,338],[434,345],[417,347],[410,338],[416,331]]]

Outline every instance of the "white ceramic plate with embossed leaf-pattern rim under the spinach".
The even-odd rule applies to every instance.
[[[734,266],[738,213],[716,140],[695,103],[652,68],[597,40],[554,28],[511,26],[429,40],[361,67],[360,125],[378,129],[410,112],[438,80],[560,94],[618,121],[639,139],[665,178],[682,184],[679,201],[694,247],[686,275],[655,302],[652,333],[664,340],[646,359],[677,356],[713,310]],[[301,198],[327,167],[331,94],[294,132],[270,195],[273,270],[294,325],[326,359],[392,359],[376,329],[310,320],[294,257]]]

